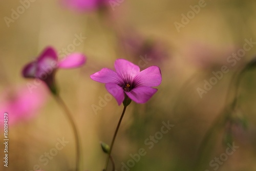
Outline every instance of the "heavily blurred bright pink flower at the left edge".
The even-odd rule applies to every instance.
[[[7,113],[8,125],[12,125],[27,121],[35,116],[46,101],[47,88],[46,86],[38,86],[33,93],[29,91],[27,86],[9,88],[0,97],[0,123],[3,124],[4,113]]]

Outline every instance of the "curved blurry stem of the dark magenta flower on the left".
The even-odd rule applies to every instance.
[[[54,96],[56,101],[58,102],[58,104],[61,106],[61,108],[63,108],[63,110],[65,111],[68,120],[71,124],[74,136],[75,136],[75,145],[76,145],[76,171],[79,170],[79,163],[80,163],[80,151],[81,151],[81,147],[80,147],[80,140],[79,140],[79,136],[78,136],[78,131],[77,131],[77,127],[76,124],[74,122],[74,119],[72,118],[72,115],[70,113],[70,111],[68,110],[67,105],[65,104],[65,102],[62,100],[62,98],[59,95],[55,95]]]

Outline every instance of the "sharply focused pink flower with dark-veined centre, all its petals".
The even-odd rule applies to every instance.
[[[105,88],[112,94],[118,105],[125,97],[129,97],[136,103],[147,102],[157,89],[152,87],[159,86],[162,81],[160,68],[151,66],[140,71],[139,66],[125,59],[115,61],[115,71],[103,68],[99,72],[91,75],[95,81],[105,83]]]

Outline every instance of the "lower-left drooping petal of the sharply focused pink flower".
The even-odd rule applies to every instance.
[[[110,94],[112,94],[115,97],[118,105],[120,105],[123,102],[124,100],[123,88],[118,86],[118,84],[106,83],[105,88],[106,90],[108,90]]]

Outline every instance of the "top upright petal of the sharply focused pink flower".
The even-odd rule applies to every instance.
[[[129,81],[126,83],[132,83],[134,77],[140,72],[139,66],[136,66],[125,59],[117,59],[115,61],[115,69],[122,79]]]

